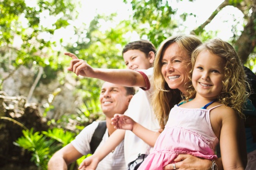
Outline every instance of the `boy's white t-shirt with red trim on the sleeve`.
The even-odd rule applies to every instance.
[[[150,86],[150,83],[153,83],[153,68],[151,67],[147,70],[138,71],[145,78],[147,82],[147,88],[144,90],[140,88],[138,92],[132,97],[125,115],[131,117],[134,121],[141,124],[145,128],[157,131],[160,129],[160,125],[158,120],[155,118],[153,109],[150,104],[150,96],[153,91],[152,87]],[[139,154],[148,155],[151,150],[152,147],[137,137],[133,132],[126,130],[124,138],[124,154],[126,165],[138,158]]]

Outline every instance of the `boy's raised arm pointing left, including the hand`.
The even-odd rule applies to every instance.
[[[72,58],[68,70],[76,73],[76,75],[98,78],[126,87],[146,87],[143,76],[137,71],[130,69],[92,68],[86,61],[77,58],[75,54],[70,52],[64,54]]]

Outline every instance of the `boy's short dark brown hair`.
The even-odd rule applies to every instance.
[[[128,50],[140,50],[143,53],[145,53],[146,56],[150,51],[153,51],[155,53],[157,52],[155,45],[153,45],[150,41],[147,40],[138,40],[126,44],[122,51],[122,54],[124,54]]]

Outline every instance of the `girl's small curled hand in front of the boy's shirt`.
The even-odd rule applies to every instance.
[[[112,125],[114,125],[115,129],[124,129],[124,130],[132,130],[134,124],[136,123],[133,119],[128,116],[115,114],[114,118],[111,119]]]

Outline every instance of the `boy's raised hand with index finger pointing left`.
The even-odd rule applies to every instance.
[[[77,58],[75,54],[70,52],[65,52],[64,54],[72,58],[70,66],[68,67],[69,71],[73,71],[76,75],[82,75],[85,77],[92,77],[94,75],[94,69],[86,63],[86,61]]]

